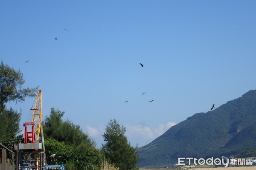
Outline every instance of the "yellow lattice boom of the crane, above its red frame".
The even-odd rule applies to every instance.
[[[38,90],[36,97],[35,108],[30,108],[33,111],[32,122],[35,125],[35,140],[39,140],[40,130],[42,125],[42,91]]]

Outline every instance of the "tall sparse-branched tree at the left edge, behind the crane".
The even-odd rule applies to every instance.
[[[20,70],[0,64],[0,142],[5,142],[19,132],[21,112],[6,109],[7,102],[23,102],[26,97],[36,96],[37,88],[23,88],[25,80]]]

